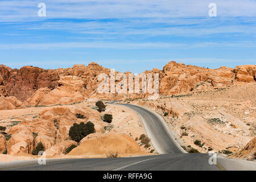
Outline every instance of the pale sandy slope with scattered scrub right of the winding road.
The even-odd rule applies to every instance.
[[[228,154],[237,152],[256,136],[255,90],[256,84],[248,83],[209,92],[160,97],[153,101],[125,102],[161,114],[176,140],[187,151],[196,148],[200,152]],[[201,143],[194,144],[196,140]]]

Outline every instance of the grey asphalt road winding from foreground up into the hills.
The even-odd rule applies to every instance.
[[[216,164],[209,164],[208,154],[188,154],[176,143],[163,119],[141,106],[122,104],[135,110],[142,118],[147,135],[159,155],[113,159],[47,159],[46,165],[37,160],[0,163],[0,170],[51,171],[51,170],[256,170],[255,162],[226,159],[218,156]]]

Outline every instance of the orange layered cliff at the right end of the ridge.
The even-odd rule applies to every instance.
[[[234,82],[254,82],[255,72],[256,65],[208,69],[171,61],[163,68],[159,93],[171,95],[220,88]]]

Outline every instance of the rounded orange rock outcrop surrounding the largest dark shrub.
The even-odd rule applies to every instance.
[[[79,119],[76,114],[82,114]],[[97,110],[81,107],[52,107],[43,110],[37,117],[22,118],[22,122],[11,127],[8,134],[11,138],[7,142],[7,151],[10,155],[19,153],[31,154],[39,142],[42,142],[47,155],[62,154],[65,148],[74,144],[69,141],[69,128],[74,123],[93,122],[97,133],[104,133],[106,123],[102,122]]]

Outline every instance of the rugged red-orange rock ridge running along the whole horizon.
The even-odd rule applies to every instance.
[[[74,65],[73,68],[55,70],[28,66],[11,69],[0,65],[2,84],[5,84],[6,87],[4,89],[1,85],[0,90],[2,90],[3,96],[8,94],[22,102],[27,100],[26,104],[28,105],[70,104],[71,98],[74,97],[74,102],[82,100],[82,97],[110,99],[146,97],[145,94],[122,94],[122,96],[119,96],[120,94],[118,96],[117,94],[98,94],[97,86],[100,81],[97,80],[97,77],[100,73],[110,76],[110,69],[102,68],[94,62],[90,63],[88,67]],[[125,75],[128,73],[126,72]],[[152,69],[144,73],[146,75],[147,73],[159,73],[159,93],[172,95],[220,88],[234,83],[255,82],[256,65],[240,65],[234,69],[228,67],[208,69],[171,61],[163,67],[162,71]],[[118,82],[115,81],[115,84]],[[49,102],[47,96],[51,99],[56,98]]]

